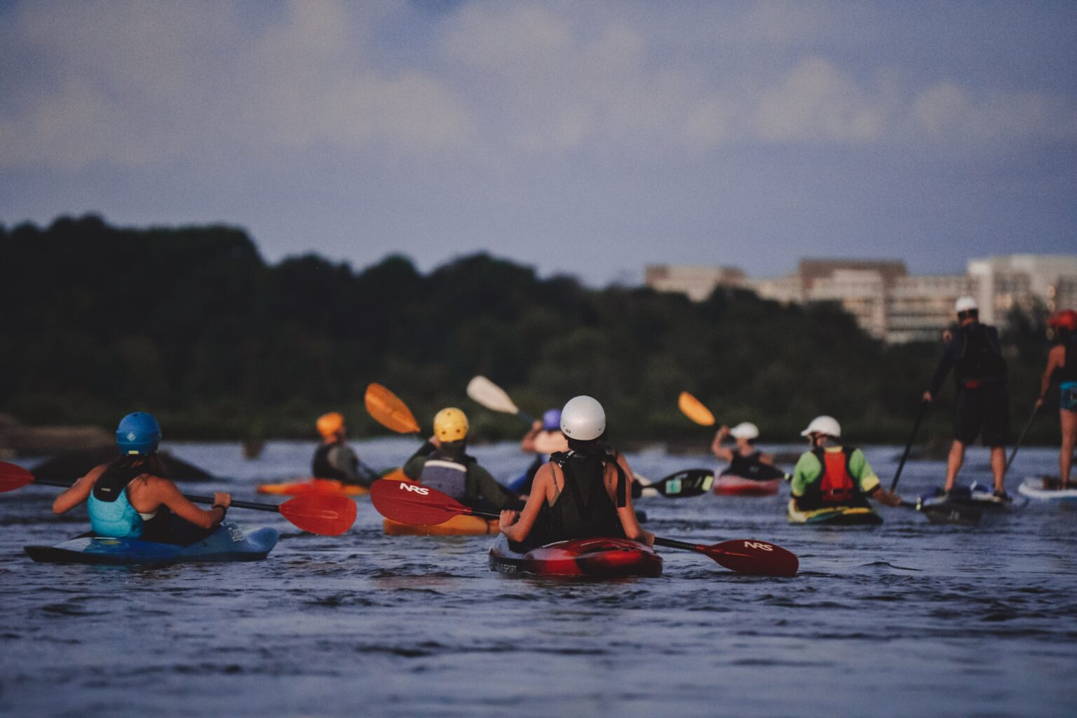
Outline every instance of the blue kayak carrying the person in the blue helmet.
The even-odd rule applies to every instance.
[[[27,555],[39,563],[90,563],[130,565],[139,563],[192,563],[197,561],[258,561],[277,545],[276,529],[247,532],[234,523],[190,546],[158,544],[139,538],[78,536],[58,546],[27,546]]]

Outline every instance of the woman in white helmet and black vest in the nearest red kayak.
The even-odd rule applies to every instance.
[[[632,508],[631,469],[602,444],[605,410],[576,396],[561,410],[569,450],[550,456],[535,474],[522,512],[502,511],[501,533],[517,544],[544,546],[570,538],[630,538],[654,545]]]

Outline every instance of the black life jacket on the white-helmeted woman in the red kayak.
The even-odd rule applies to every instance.
[[[564,490],[553,506],[546,507],[541,541],[570,538],[624,538],[625,529],[617,508],[627,503],[628,478],[609,454],[557,452],[550,456],[564,479]],[[613,462],[617,468],[616,502],[605,488],[605,467]]]

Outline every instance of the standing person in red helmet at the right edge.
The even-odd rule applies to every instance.
[[[1047,324],[1054,329],[1058,343],[1047,354],[1047,368],[1039,380],[1036,408],[1044,406],[1051,381],[1058,380],[1059,423],[1062,427],[1058,488],[1074,489],[1077,483],[1069,480],[1069,471],[1074,461],[1074,445],[1077,444],[1077,311],[1066,309],[1054,312]]]

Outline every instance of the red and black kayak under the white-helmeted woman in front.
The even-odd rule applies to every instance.
[[[627,538],[577,538],[519,553],[501,534],[490,547],[490,571],[535,576],[653,577],[662,575],[662,559],[651,547]]]

